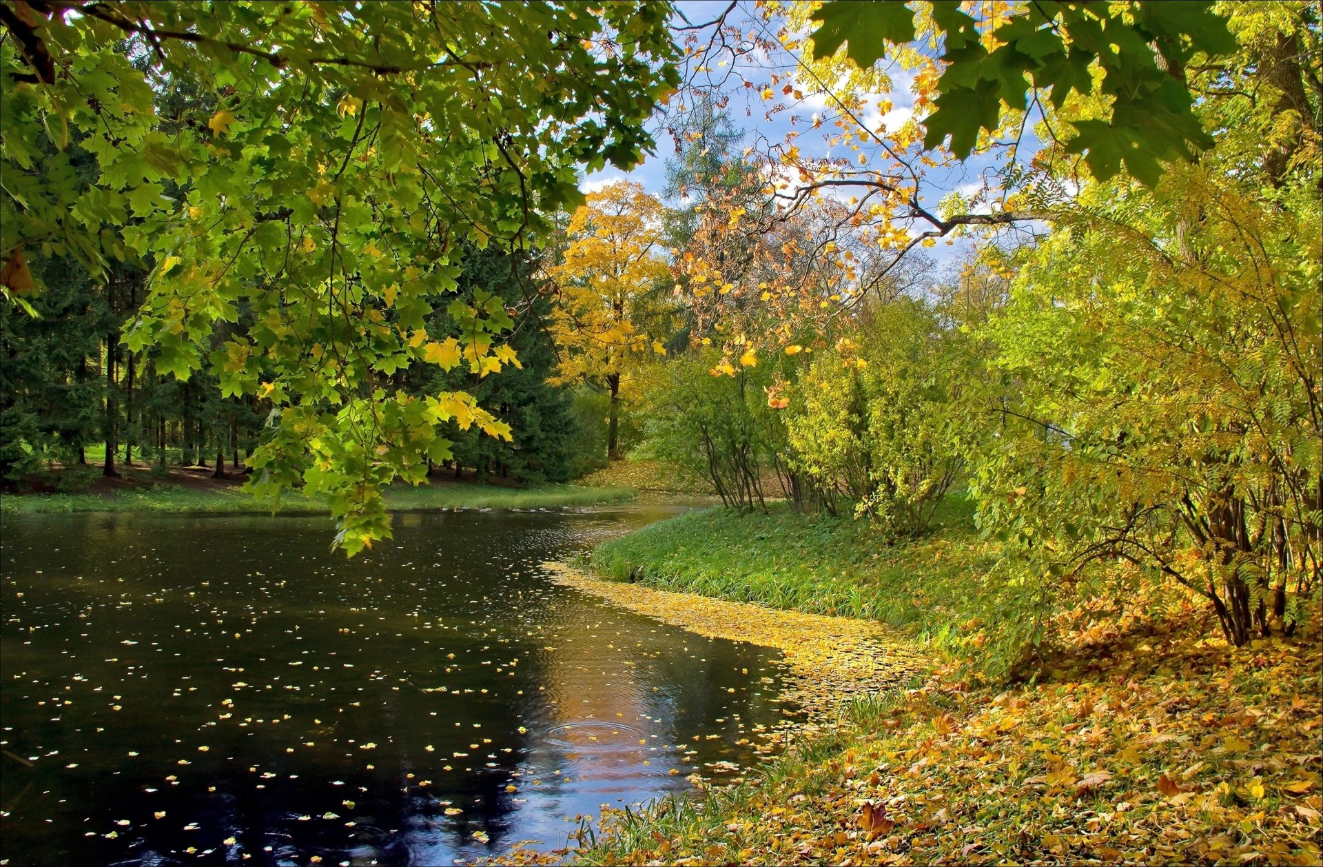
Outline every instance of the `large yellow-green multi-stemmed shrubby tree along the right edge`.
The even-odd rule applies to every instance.
[[[1244,5],[1230,26],[1241,52],[1196,79],[1217,146],[1155,189],[1119,176],[1060,205],[986,330],[972,488],[1029,641],[1115,593],[1118,561],[1205,598],[1234,645],[1316,612],[1318,15]]]

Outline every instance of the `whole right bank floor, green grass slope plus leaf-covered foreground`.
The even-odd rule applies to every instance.
[[[605,813],[595,841],[572,856],[1319,863],[1318,623],[1232,649],[1185,604],[1074,633],[1031,682],[979,682],[941,641],[978,616],[995,559],[968,514],[957,500],[939,531],[890,547],[852,536],[867,532],[853,522],[716,510],[599,545],[589,567],[603,577],[880,619],[927,663],[835,711],[820,704],[806,737],[740,784]]]

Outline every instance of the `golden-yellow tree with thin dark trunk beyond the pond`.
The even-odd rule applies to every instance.
[[[590,383],[610,394],[607,454],[619,458],[620,402],[638,365],[664,353],[647,323],[669,283],[662,203],[619,181],[589,193],[570,218],[564,261],[550,270],[558,383]]]

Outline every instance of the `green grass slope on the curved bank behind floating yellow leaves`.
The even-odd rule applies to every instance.
[[[889,544],[867,522],[709,508],[598,545],[587,565],[617,581],[814,614],[878,619],[945,643],[978,617],[996,560],[974,506],[950,498],[927,536]]]

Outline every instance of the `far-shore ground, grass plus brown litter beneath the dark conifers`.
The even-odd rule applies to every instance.
[[[37,491],[5,491],[0,511],[21,512],[271,512],[269,500],[242,491],[247,475],[228,471],[214,478],[213,467],[171,466],[164,473],[143,465],[118,467],[116,477],[105,477],[95,467],[57,471],[38,484]],[[446,473],[448,477],[448,471]],[[46,490],[40,490],[45,487]],[[65,488],[65,490],[61,490]],[[393,510],[423,508],[552,508],[619,503],[635,496],[630,487],[587,487],[582,484],[541,484],[519,487],[488,478],[433,478],[427,484],[394,484],[386,491]],[[316,498],[286,494],[275,510],[282,514],[324,514],[329,510]]]

